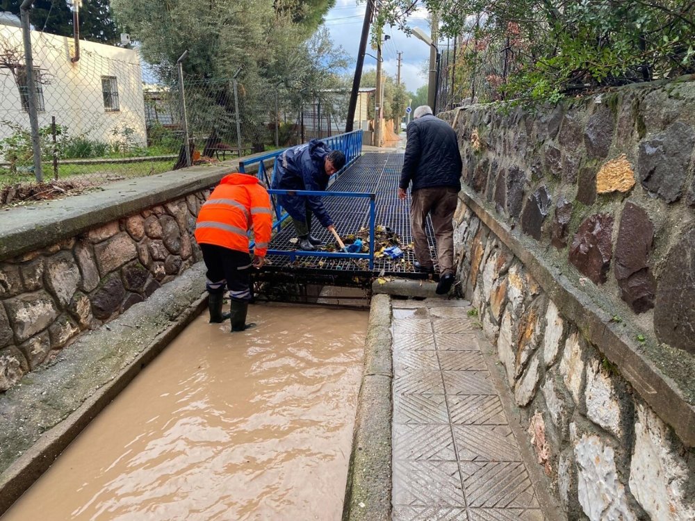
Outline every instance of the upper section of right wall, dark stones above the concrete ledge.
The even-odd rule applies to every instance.
[[[450,121],[455,113],[448,113]],[[695,78],[461,110],[464,182],[655,342],[695,354]]]

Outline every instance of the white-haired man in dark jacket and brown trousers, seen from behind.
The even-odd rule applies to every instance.
[[[439,284],[436,292],[445,295],[454,283],[453,217],[461,190],[461,154],[456,133],[451,126],[432,115],[428,106],[413,113],[407,128],[403,169],[398,184],[398,198],[405,199],[411,187],[410,221],[417,261],[416,269],[434,273],[434,263],[427,245],[425,220],[432,216],[436,250],[439,257]]]

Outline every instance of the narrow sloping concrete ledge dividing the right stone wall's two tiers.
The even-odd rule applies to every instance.
[[[564,317],[578,325],[584,336],[619,368],[651,408],[669,424],[682,443],[695,447],[695,406],[687,402],[682,383],[676,383],[664,374],[648,353],[637,351],[632,342],[630,328],[611,321],[612,314],[592,301],[589,295],[575,286],[565,275],[552,267],[547,256],[530,240],[512,232],[500,222],[493,210],[482,202],[468,186],[463,186],[459,197],[464,204],[521,260],[526,270],[538,281]],[[666,353],[664,352],[664,356]]]

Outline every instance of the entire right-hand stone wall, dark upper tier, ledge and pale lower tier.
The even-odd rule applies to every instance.
[[[457,275],[569,518],[695,518],[695,81],[443,115]]]

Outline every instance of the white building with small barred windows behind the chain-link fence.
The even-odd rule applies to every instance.
[[[70,138],[144,147],[145,104],[137,51],[31,31],[39,126],[56,118]],[[0,25],[0,140],[29,129],[22,30]]]

